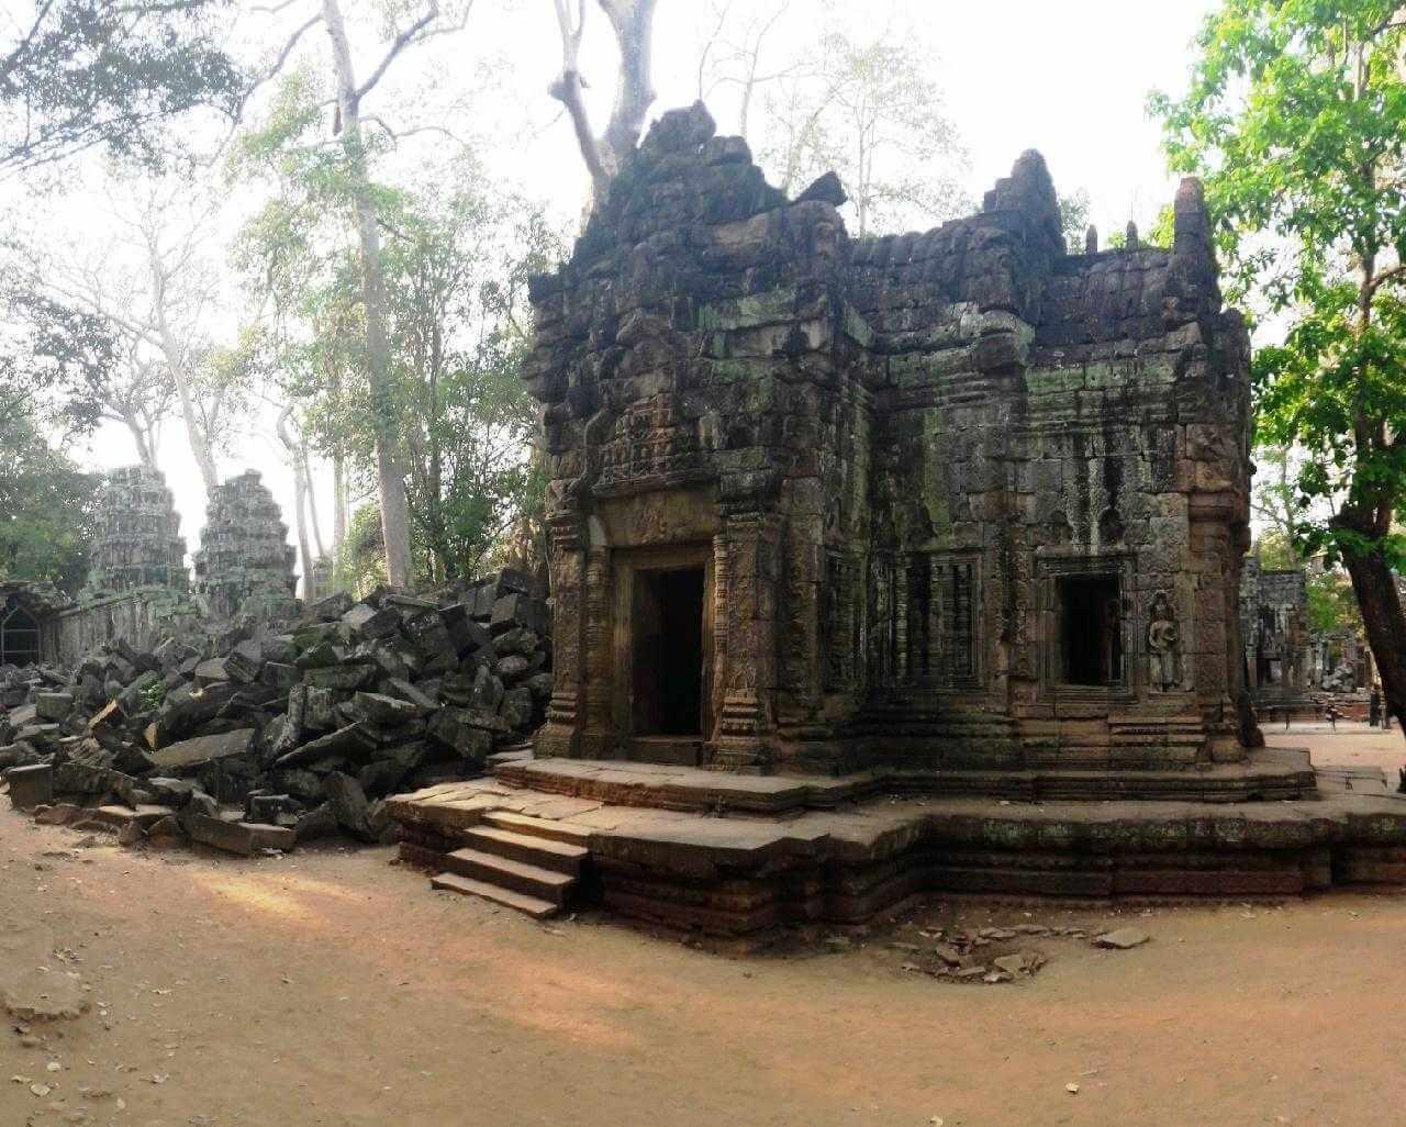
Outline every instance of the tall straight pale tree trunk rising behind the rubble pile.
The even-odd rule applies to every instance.
[[[361,242],[361,301],[366,306],[366,344],[371,398],[375,400],[375,475],[381,495],[381,535],[385,540],[385,578],[394,587],[411,585],[411,514],[405,499],[405,472],[391,417],[391,344],[387,336],[385,273],[381,233],[361,139],[361,105],[352,69],[346,24],[337,0],[322,0],[322,17],[332,39],[332,63],[342,110],[342,148],[347,157],[357,232]]]

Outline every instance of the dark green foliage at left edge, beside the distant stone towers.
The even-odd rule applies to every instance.
[[[34,417],[0,415],[0,580],[83,585],[97,482],[45,441]]]

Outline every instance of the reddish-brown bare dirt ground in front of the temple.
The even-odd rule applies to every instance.
[[[1275,742],[1406,757],[1399,734]],[[727,958],[537,925],[391,856],[135,854],[6,809],[0,989],[89,1009],[7,1022],[0,1127],[1406,1123],[1406,897],[934,901],[844,950]],[[1152,942],[1035,939],[1049,964],[1000,985],[903,970],[891,943],[955,920]]]

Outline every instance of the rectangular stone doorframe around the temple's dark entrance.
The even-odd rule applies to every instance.
[[[710,542],[678,544],[658,548],[614,548],[612,569],[612,637],[614,677],[610,694],[610,728],[617,745],[634,732],[634,589],[641,572],[700,569],[703,572],[703,719],[697,739],[710,741],[717,727],[716,642],[714,642],[714,568]]]

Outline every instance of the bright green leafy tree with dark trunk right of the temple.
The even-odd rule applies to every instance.
[[[1391,710],[1406,717],[1406,6],[1223,0],[1167,152],[1206,180],[1241,289],[1284,318],[1254,358],[1257,434],[1305,451],[1305,554],[1353,579]]]

